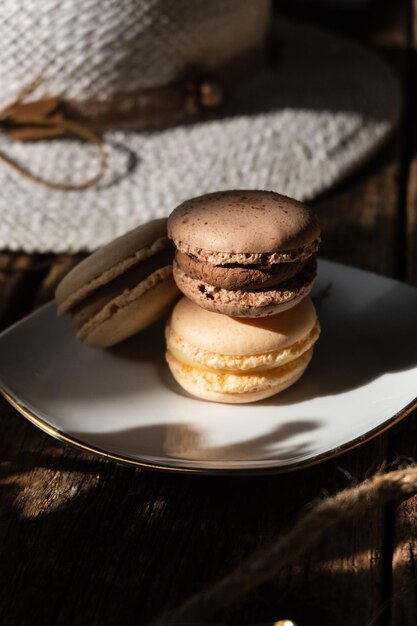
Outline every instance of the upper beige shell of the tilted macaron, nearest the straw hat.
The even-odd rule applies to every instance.
[[[81,261],[55,292],[58,314],[64,314],[93,291],[168,245],[166,218],[141,224]]]

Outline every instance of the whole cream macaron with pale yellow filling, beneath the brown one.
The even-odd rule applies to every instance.
[[[166,326],[166,359],[178,384],[197,398],[254,402],[302,376],[319,334],[308,297],[258,319],[213,313],[181,298]]]

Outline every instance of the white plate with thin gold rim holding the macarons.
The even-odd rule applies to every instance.
[[[95,350],[53,305],[0,335],[0,388],[46,432],[114,460],[205,473],[304,467],[417,405],[417,289],[321,260],[314,297],[313,361],[262,402],[187,396],[165,365],[162,324]]]

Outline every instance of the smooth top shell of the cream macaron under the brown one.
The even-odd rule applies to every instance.
[[[206,311],[184,297],[172,311],[170,328],[182,341],[199,350],[248,356],[281,351],[304,340],[316,320],[310,298],[278,315],[252,319]]]

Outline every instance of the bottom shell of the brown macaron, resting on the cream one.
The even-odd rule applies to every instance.
[[[311,291],[316,277],[316,263],[305,266],[297,276],[262,290],[228,290],[214,287],[188,276],[173,263],[173,275],[178,288],[198,306],[215,313],[235,317],[265,317],[294,307]]]

